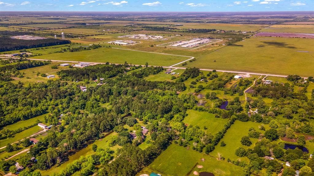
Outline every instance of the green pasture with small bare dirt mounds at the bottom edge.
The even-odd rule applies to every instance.
[[[204,158],[205,161],[202,162],[201,158]],[[197,168],[196,165],[202,165],[203,168]],[[211,172],[215,176],[224,176],[240,175],[242,168],[226,161],[219,161],[192,149],[187,150],[187,148],[172,144],[138,175],[150,174],[152,171],[163,176],[185,176],[190,171]]]

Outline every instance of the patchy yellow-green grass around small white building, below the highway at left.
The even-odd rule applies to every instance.
[[[33,67],[33,68],[29,68],[29,69],[25,69],[25,70],[20,70],[20,72],[24,72],[25,74],[23,75],[23,78],[14,78],[15,80],[12,81],[14,83],[17,83],[18,81],[21,82],[47,82],[48,78],[46,77],[41,77],[40,75],[37,76],[37,72],[40,73],[45,73],[48,75],[55,75],[56,78],[50,78],[50,79],[58,79],[58,75],[57,75],[57,71],[60,70],[64,70],[64,69],[68,69],[68,66],[58,66],[57,69],[52,69],[51,66],[52,65],[59,65],[59,64],[63,64],[66,62],[52,62],[51,64],[48,65],[43,65],[43,66],[39,66],[39,67]],[[68,64],[72,64],[72,63],[68,63]],[[28,78],[27,78],[28,77]]]

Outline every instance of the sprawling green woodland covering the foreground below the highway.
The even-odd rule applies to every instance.
[[[126,74],[127,68],[132,67],[132,74]],[[192,150],[211,154],[215,147],[225,136],[225,133],[236,122],[262,122],[268,124],[269,129],[261,125],[263,132],[250,128],[247,136],[242,137],[241,143],[252,146],[251,138],[258,138],[254,146],[249,149],[237,148],[235,154],[246,156],[249,161],[235,161],[221,157],[243,168],[243,175],[259,173],[262,168],[267,169],[268,175],[279,173],[283,168],[280,162],[289,161],[293,167],[285,168],[283,176],[289,176],[300,169],[302,176],[310,176],[306,168],[314,168],[314,160],[308,161],[309,153],[300,149],[284,150],[284,142],[275,142],[279,137],[297,138],[298,145],[304,146],[304,135],[313,135],[311,117],[314,114],[314,91],[311,98],[307,98],[306,91],[294,92],[294,85],[308,86],[308,82],[295,81],[284,85],[272,83],[257,85],[251,90],[253,98],[248,98],[245,107],[237,95],[243,95],[252,81],[243,80],[241,88],[225,88],[233,76],[218,77],[215,71],[204,75],[198,68],[188,68],[176,81],[148,81],[143,77],[158,74],[162,67],[135,67],[125,65],[94,65],[82,69],[68,69],[58,72],[61,80],[48,80],[47,83],[13,84],[5,82],[0,85],[1,98],[1,137],[10,137],[14,134],[5,126],[19,120],[48,112],[45,123],[55,125],[47,135],[40,139],[30,152],[19,158],[19,163],[29,166],[20,175],[34,175],[37,170],[46,170],[59,163],[67,161],[68,156],[86,146],[90,142],[103,138],[104,133],[116,132],[117,136],[110,139],[110,146],[119,145],[119,156],[111,164],[111,151],[108,148],[94,148],[95,153],[87,155],[68,163],[65,169],[53,176],[88,176],[97,172],[100,176],[136,175],[142,168],[148,166],[162,153],[168,145],[176,143],[180,146],[191,146]],[[218,78],[217,78],[218,77]],[[102,85],[89,85],[89,81],[105,78]],[[177,91],[186,90],[184,82],[193,78],[212,79],[207,86],[198,86],[196,92],[207,89],[206,98],[215,102],[215,106],[204,107],[197,105],[196,96],[192,94],[178,95]],[[289,77],[290,78],[290,77]],[[73,80],[84,80],[87,91],[83,92],[78,83]],[[70,82],[71,81],[71,82]],[[196,85],[192,81],[191,85]],[[308,79],[313,81],[313,79]],[[216,97],[213,90],[222,90],[225,95],[234,95],[229,101],[226,110],[217,108],[223,101]],[[241,94],[242,93],[242,94]],[[273,99],[270,106],[263,101],[263,97]],[[101,104],[110,106],[104,107]],[[248,116],[250,108],[258,108],[258,113]],[[196,125],[186,126],[183,122],[187,110],[205,111],[215,115],[216,118],[227,119],[222,129],[215,134],[207,134],[205,127]],[[63,114],[63,116],[60,116]],[[129,114],[130,116],[126,116]],[[137,146],[143,142],[141,125],[143,121],[151,134],[151,144],[142,150]],[[125,125],[137,130],[138,138],[132,140],[130,132]],[[138,130],[139,129],[139,130]],[[295,135],[294,132],[299,132]],[[192,143],[192,144],[191,144]],[[23,145],[29,146],[28,139]],[[220,145],[223,145],[221,142]],[[8,144],[6,150],[13,151],[14,147]],[[274,160],[265,160],[264,156],[272,156]],[[29,158],[35,157],[36,162]],[[130,159],[132,158],[132,159]],[[13,160],[0,161],[0,169],[15,172]]]

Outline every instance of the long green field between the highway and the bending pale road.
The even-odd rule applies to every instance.
[[[69,60],[69,61],[84,61],[84,62],[99,62],[99,63],[114,63],[145,65],[169,66],[176,64],[190,57],[156,54],[149,52],[115,49],[115,48],[98,48],[78,52],[54,53],[41,56],[32,57],[33,59],[47,59],[47,60]]]

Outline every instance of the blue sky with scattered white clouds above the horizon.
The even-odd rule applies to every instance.
[[[0,0],[0,11],[314,11],[314,0]]]

